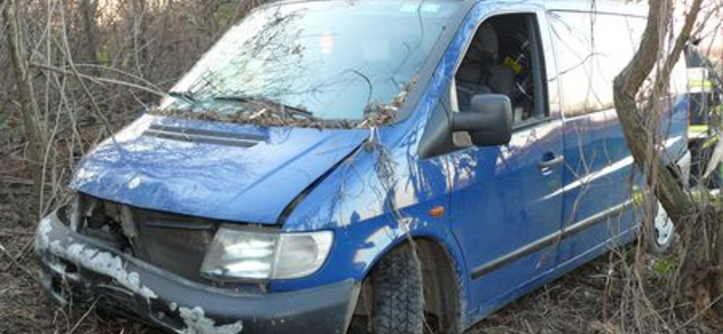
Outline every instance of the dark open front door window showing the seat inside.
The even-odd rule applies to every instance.
[[[515,124],[547,113],[540,33],[535,14],[503,14],[482,23],[455,74],[456,111],[478,94],[510,98]]]

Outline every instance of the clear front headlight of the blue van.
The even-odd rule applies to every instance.
[[[308,276],[324,264],[332,239],[332,231],[271,233],[221,227],[203,259],[201,274],[221,280]]]

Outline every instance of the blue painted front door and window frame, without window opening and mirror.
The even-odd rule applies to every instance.
[[[549,96],[549,118],[516,129],[508,145],[470,147],[448,154],[453,166],[452,230],[470,270],[468,317],[480,319],[531,291],[556,265],[562,215],[563,166],[540,162],[562,154],[556,71],[544,12],[530,4],[484,2],[465,19],[465,45],[479,23],[497,14],[536,14]],[[466,49],[459,50],[461,60]]]

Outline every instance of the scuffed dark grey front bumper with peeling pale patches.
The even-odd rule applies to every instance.
[[[38,227],[35,253],[43,288],[56,302],[97,301],[176,333],[344,333],[360,290],[351,280],[295,292],[191,282],[81,236],[54,212]]]

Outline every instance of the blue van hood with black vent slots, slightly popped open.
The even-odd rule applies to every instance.
[[[277,224],[367,135],[146,115],[86,155],[70,188],[138,208]]]

